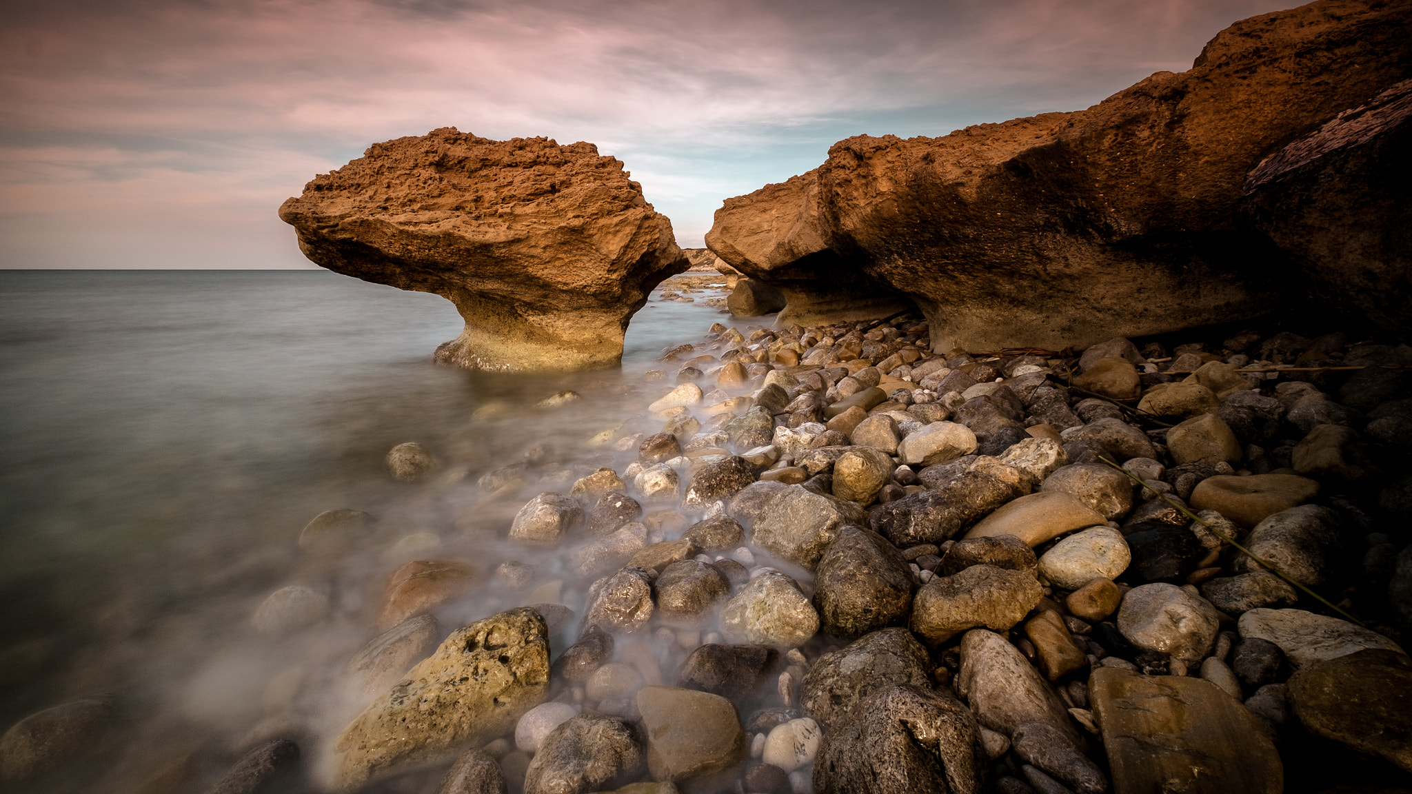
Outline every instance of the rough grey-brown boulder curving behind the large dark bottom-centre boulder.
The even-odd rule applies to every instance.
[[[894,684],[928,687],[931,660],[907,629],[882,629],[827,651],[799,687],[799,705],[826,729],[853,722],[857,705]]]

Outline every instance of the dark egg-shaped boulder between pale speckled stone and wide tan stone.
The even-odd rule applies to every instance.
[[[825,632],[853,640],[907,620],[912,572],[882,535],[843,527],[815,569],[815,606]]]

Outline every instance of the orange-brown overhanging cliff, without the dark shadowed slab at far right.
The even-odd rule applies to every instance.
[[[1299,274],[1241,225],[1247,174],[1412,76],[1409,24],[1406,0],[1322,0],[1240,21],[1192,69],[1087,110],[847,138],[819,168],[727,199],[706,242],[823,314],[905,294],[938,349],[1083,346],[1258,315]]]

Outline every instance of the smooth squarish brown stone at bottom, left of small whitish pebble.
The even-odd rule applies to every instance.
[[[740,715],[720,695],[642,687],[634,702],[647,735],[647,769],[654,780],[710,777],[746,757]]]

